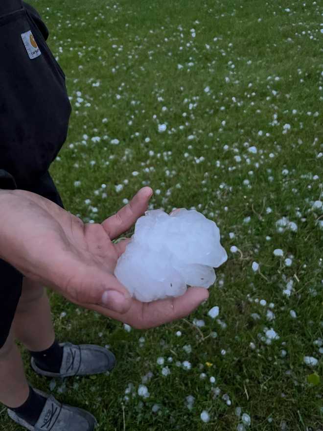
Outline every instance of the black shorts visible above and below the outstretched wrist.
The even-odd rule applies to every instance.
[[[48,172],[36,183],[18,189],[37,193],[63,207],[63,202]],[[23,275],[9,263],[0,259],[0,348],[4,345],[22,293]]]

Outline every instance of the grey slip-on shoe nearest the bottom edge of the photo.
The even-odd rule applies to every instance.
[[[47,399],[35,426],[28,424],[17,413],[8,408],[8,415],[17,424],[30,431],[93,431],[97,425],[95,417],[86,410],[61,404],[51,395],[34,389]]]

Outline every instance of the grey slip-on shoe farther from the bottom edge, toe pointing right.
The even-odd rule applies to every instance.
[[[31,368],[41,376],[64,378],[105,373],[115,366],[115,355],[103,347],[71,343],[60,343],[60,346],[63,347],[63,359],[59,373],[42,370],[34,358],[30,360]]]

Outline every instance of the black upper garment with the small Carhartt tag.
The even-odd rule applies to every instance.
[[[71,107],[39,14],[18,0],[0,4],[0,169],[17,186],[28,186],[46,173],[64,144]],[[41,52],[32,59],[22,39],[28,31]]]

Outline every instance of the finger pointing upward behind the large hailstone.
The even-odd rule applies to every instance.
[[[102,223],[110,239],[115,239],[128,230],[144,214],[152,194],[150,187],[143,187],[126,206]]]

